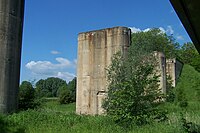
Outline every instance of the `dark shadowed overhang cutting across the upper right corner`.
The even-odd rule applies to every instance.
[[[200,53],[200,0],[170,0],[170,2]]]

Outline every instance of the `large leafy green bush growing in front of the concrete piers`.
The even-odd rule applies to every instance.
[[[126,58],[114,56],[108,68],[108,97],[103,107],[117,123],[144,125],[166,118],[165,112],[157,108],[163,95],[156,65],[154,56],[140,49],[130,49]]]

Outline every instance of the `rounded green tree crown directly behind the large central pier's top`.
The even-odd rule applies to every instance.
[[[147,32],[133,33],[131,38],[132,45],[135,47],[142,47],[143,50],[148,52],[163,52],[167,58],[176,57],[177,49],[180,47],[173,36],[168,36],[158,28]]]

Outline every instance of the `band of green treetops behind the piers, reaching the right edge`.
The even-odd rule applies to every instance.
[[[133,33],[131,41],[132,45],[142,47],[145,51],[163,52],[166,58],[177,58],[200,72],[200,55],[191,42],[180,46],[173,36],[168,36],[156,28],[148,32]]]

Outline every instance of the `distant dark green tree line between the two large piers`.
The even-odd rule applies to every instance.
[[[57,97],[60,104],[76,101],[76,78],[69,83],[55,77],[40,79],[35,84],[23,81],[19,87],[19,109],[35,108],[41,98]]]

